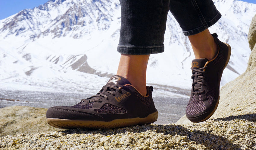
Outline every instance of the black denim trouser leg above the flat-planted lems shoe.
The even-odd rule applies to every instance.
[[[170,0],[120,0],[121,28],[117,51],[126,55],[164,52]]]

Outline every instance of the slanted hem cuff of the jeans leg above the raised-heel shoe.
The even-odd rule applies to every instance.
[[[220,12],[218,12],[216,14],[216,16],[212,20],[206,22],[206,24],[204,24],[204,25],[202,25],[198,28],[195,28],[193,30],[189,30],[189,31],[183,30],[183,34],[185,36],[190,36],[190,35],[195,35],[195,34],[198,34],[200,32],[203,32],[204,30],[208,29],[210,26],[214,25],[220,18],[221,18],[221,14],[220,14]]]

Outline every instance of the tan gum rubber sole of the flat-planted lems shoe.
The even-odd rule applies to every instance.
[[[157,120],[158,111],[149,114],[145,118],[129,118],[129,119],[115,119],[110,122],[104,121],[88,121],[88,120],[69,120],[69,119],[57,119],[57,118],[47,118],[46,121],[49,125],[62,128],[62,129],[70,129],[70,128],[119,128],[119,127],[127,127],[133,125],[142,125],[142,124],[150,124]]]

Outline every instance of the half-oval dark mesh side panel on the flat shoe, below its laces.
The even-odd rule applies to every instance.
[[[106,113],[106,114],[120,114],[126,113],[127,111],[123,108],[111,105],[111,104],[104,104],[100,109],[94,110],[96,113]]]

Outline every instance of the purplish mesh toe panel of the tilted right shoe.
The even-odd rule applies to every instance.
[[[186,112],[188,115],[196,115],[202,113],[206,110],[206,107],[203,102],[202,95],[198,95],[198,100],[195,99],[195,95],[192,98],[192,101],[186,108]]]

